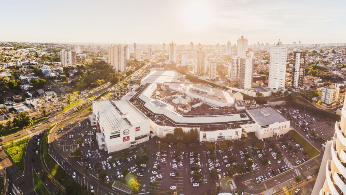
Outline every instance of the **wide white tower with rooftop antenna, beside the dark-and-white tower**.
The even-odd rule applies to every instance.
[[[279,90],[285,88],[286,59],[286,47],[279,46],[279,43],[277,43],[275,46],[270,48],[268,78],[269,90]]]

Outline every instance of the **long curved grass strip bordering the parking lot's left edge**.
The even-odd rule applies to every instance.
[[[88,190],[78,184],[64,169],[62,169],[48,154],[47,133],[43,136],[43,154],[49,173],[64,187],[72,186],[79,194],[90,194]]]

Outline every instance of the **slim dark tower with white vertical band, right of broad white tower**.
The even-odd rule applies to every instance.
[[[293,51],[292,87],[301,88],[304,82],[305,51]]]

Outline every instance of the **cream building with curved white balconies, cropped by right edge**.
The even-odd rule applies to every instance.
[[[346,192],[346,101],[340,122],[335,122],[335,133],[321,144],[325,152],[311,195],[341,195]]]

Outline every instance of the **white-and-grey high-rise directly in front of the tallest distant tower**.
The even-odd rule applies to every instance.
[[[248,90],[252,88],[254,74],[254,54],[252,51],[246,52],[244,58],[240,58],[239,66],[239,88]]]

